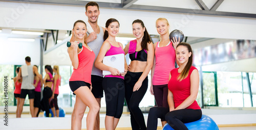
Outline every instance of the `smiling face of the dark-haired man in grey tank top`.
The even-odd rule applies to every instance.
[[[99,17],[99,9],[97,6],[88,6],[86,16],[91,23],[96,23]]]

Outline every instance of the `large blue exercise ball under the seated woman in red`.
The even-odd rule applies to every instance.
[[[209,116],[202,115],[200,120],[184,123],[189,130],[197,129],[210,129],[210,130],[219,130],[217,124]],[[163,130],[173,130],[168,123],[163,126]]]

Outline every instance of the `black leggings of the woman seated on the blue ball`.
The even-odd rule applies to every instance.
[[[147,117],[147,129],[157,129],[157,119],[165,119],[167,123],[177,129],[187,129],[184,123],[189,123],[201,119],[202,111],[194,109],[181,109],[169,112],[166,107],[152,107]]]

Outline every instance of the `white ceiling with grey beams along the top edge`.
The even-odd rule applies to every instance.
[[[86,0],[5,0],[13,2],[29,2],[43,4],[62,4],[84,6]],[[235,16],[256,18],[255,2],[253,0],[94,0],[100,7],[123,8],[135,10],[168,11],[194,13],[204,15]]]

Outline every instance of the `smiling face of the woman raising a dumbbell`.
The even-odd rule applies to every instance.
[[[73,31],[77,39],[83,39],[84,36],[86,36],[86,31],[87,31],[86,25],[84,23],[78,22],[74,26]]]

